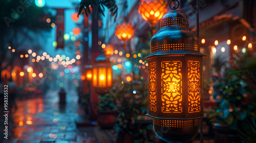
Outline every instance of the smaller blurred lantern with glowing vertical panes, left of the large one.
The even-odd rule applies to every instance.
[[[92,86],[96,88],[98,94],[105,94],[109,92],[112,87],[112,68],[109,58],[99,55],[92,67],[93,81]]]

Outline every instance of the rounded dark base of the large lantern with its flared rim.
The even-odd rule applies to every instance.
[[[187,142],[193,139],[199,129],[200,118],[158,118],[146,114],[153,118],[154,132],[167,142]]]

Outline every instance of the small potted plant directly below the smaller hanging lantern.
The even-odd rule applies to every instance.
[[[116,124],[117,108],[115,97],[112,93],[99,96],[99,117],[98,124],[103,129],[111,129]]]

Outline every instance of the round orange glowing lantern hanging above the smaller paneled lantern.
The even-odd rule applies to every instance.
[[[127,40],[131,39],[134,34],[134,29],[131,23],[121,23],[116,26],[116,36],[118,39],[123,40],[126,42]]]

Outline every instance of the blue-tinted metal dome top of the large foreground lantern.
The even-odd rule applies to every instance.
[[[151,39],[150,59],[155,56],[203,56],[199,39],[189,28],[188,18],[181,11],[169,11],[160,22],[160,30]]]

